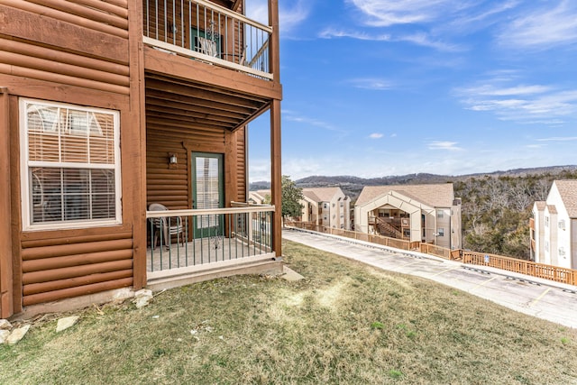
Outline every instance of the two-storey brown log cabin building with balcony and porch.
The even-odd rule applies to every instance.
[[[250,1],[0,2],[0,317],[281,269],[278,0]]]

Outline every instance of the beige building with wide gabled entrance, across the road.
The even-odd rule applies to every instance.
[[[460,249],[461,198],[453,183],[367,186],[354,206],[354,230]]]

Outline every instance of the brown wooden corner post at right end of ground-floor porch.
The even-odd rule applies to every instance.
[[[270,200],[275,206],[272,250],[282,256],[282,170],[280,168],[280,100],[270,105]]]

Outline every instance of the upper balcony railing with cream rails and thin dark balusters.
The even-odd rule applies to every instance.
[[[257,78],[273,78],[270,26],[206,0],[142,2],[145,44]]]

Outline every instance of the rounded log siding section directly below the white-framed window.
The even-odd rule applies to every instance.
[[[22,242],[23,306],[119,289],[133,284],[133,233],[83,231],[67,238],[25,234]]]

